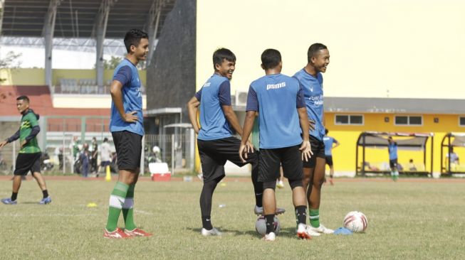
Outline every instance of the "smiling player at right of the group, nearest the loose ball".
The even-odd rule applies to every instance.
[[[323,112],[323,75],[330,63],[328,48],[321,43],[310,45],[307,53],[308,63],[299,70],[294,77],[300,82],[305,96],[307,114],[310,120],[315,121],[313,130],[309,131],[313,156],[309,161],[303,162],[303,187],[307,191],[310,225],[308,232],[312,236],[320,233],[332,234],[320,224],[320,197],[321,188],[325,182],[325,136]]]

